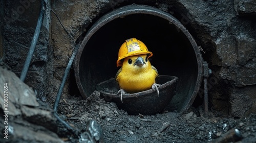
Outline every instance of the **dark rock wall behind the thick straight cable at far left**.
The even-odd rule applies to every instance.
[[[2,1],[4,61],[20,76],[23,69],[40,11],[40,1]],[[49,5],[49,4],[47,4]],[[2,10],[2,8],[1,8]],[[50,14],[45,10],[41,27],[25,83],[37,91],[37,97],[46,101],[51,80],[51,47],[49,46]]]

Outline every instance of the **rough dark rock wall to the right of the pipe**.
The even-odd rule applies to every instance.
[[[255,14],[256,3],[181,3],[189,11],[191,26],[197,23],[209,35],[209,39],[204,40],[196,36],[201,35],[200,31],[193,33],[206,52],[204,59],[213,69],[213,76],[216,76],[215,81],[209,81],[213,86],[209,95],[213,107],[223,110],[223,104],[227,103],[228,113],[240,117],[256,99],[256,20],[255,15],[251,15],[251,11]]]

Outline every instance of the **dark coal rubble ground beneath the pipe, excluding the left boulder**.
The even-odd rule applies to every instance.
[[[256,142],[255,114],[236,119],[210,112],[206,118],[201,106],[184,114],[128,115],[94,91],[87,100],[78,96],[63,100],[58,113],[80,130],[86,128],[88,120],[96,121],[103,129],[103,142]]]

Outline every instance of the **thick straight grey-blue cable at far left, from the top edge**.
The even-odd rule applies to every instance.
[[[28,53],[27,59],[26,59],[26,61],[24,63],[23,69],[22,69],[22,73],[20,74],[20,80],[23,81],[23,82],[24,82],[24,80],[26,78],[26,75],[28,73],[28,68],[29,68],[29,65],[30,65],[33,53],[35,51],[36,42],[37,42],[39,34],[40,34],[40,29],[41,29],[41,26],[42,26],[42,21],[44,20],[44,14],[45,14],[45,8],[44,8],[45,5],[44,4],[45,3],[42,0],[41,1],[40,14],[39,14],[39,17],[38,17],[38,20],[37,20],[37,25],[36,25],[35,33],[34,33],[34,36],[33,36],[33,39],[32,39],[31,45],[30,45],[30,49],[29,49],[29,53]]]

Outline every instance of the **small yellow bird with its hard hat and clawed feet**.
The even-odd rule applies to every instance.
[[[157,91],[159,96],[160,85],[156,83],[159,80],[158,71],[148,60],[152,56],[153,53],[136,38],[127,39],[121,45],[117,60],[117,67],[121,68],[116,74],[121,101],[126,92],[136,93],[151,88]]]

